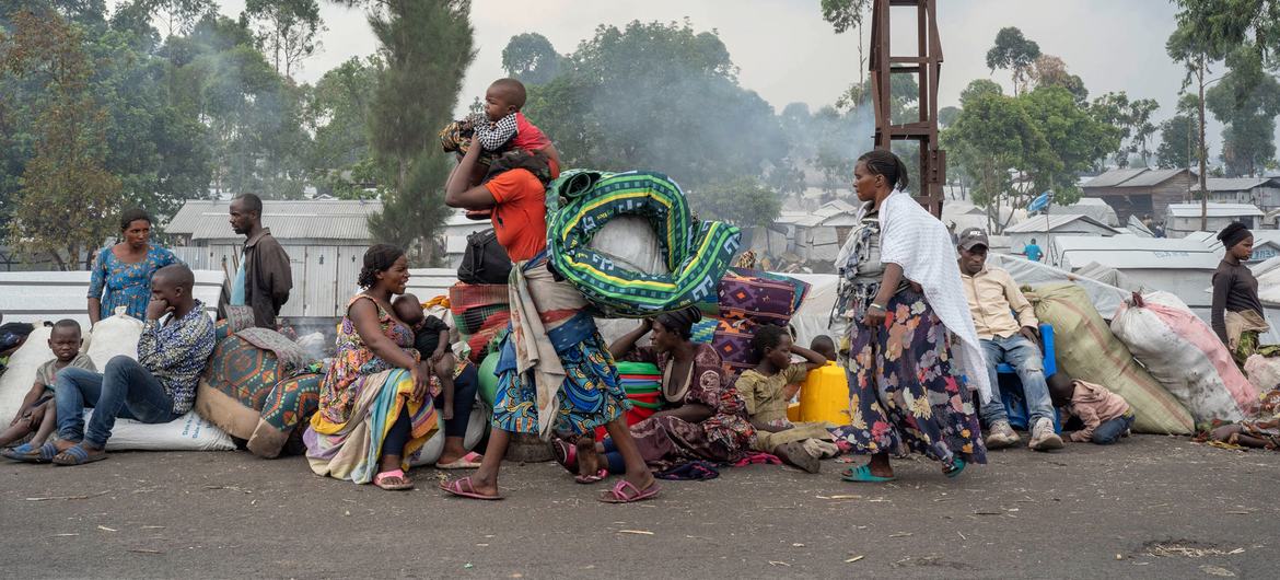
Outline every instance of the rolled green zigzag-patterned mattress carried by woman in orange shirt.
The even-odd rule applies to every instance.
[[[653,316],[713,300],[740,245],[737,228],[694,218],[680,186],[660,173],[572,170],[549,189],[552,265],[607,316]],[[654,225],[671,274],[627,270],[590,248],[596,232],[621,215]]]

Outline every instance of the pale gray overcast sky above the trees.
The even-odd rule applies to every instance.
[[[223,1],[223,12],[236,15],[243,0]],[[1009,74],[992,74],[987,49],[996,32],[1015,26],[1041,50],[1062,58],[1080,76],[1091,97],[1126,91],[1130,99],[1156,99],[1157,119],[1172,114],[1184,77],[1180,65],[1165,54],[1165,41],[1175,27],[1175,9],[1167,0],[946,0],[938,9],[945,63],[940,86],[943,106],[955,105],[960,91],[975,78],[991,78],[1010,87]],[[376,49],[362,10],[321,0],[329,28],[321,51],[303,63],[301,81],[315,81],[351,56]],[[895,9],[896,22],[911,13]],[[756,91],[774,109],[801,101],[812,109],[831,104],[858,79],[856,32],[836,35],[820,15],[818,0],[475,0],[472,22],[479,54],[467,72],[460,111],[502,70],[502,49],[522,32],[547,36],[556,50],[571,52],[599,24],[625,26],[630,20],[681,20],[698,31],[717,29],[740,82]],[[897,41],[914,44],[914,29],[895,27]],[[870,28],[867,33],[870,36]],[[895,41],[895,45],[897,45]],[[1210,119],[1212,122],[1212,118]],[[1221,127],[1208,131],[1212,155]]]

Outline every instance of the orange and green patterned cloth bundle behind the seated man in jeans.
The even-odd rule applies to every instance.
[[[219,334],[227,334],[219,323]],[[218,341],[196,391],[196,411],[259,457],[280,456],[300,442],[320,403],[324,375],[306,351],[262,328],[239,329]],[[292,449],[294,452],[300,449]]]

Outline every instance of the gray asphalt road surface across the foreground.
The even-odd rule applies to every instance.
[[[116,453],[0,465],[3,577],[1276,577],[1280,453],[1134,437],[993,452],[951,481],[900,461],[668,481],[594,501],[554,463],[509,465],[507,499],[311,475],[298,457]]]

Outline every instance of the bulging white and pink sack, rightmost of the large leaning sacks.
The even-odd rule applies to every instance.
[[[1111,330],[1197,424],[1239,421],[1257,411],[1258,391],[1213,329],[1176,296],[1134,294],[1120,305]]]

